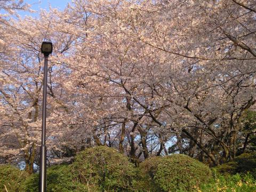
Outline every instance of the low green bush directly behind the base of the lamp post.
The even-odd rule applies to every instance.
[[[37,192],[38,191],[39,174],[30,175],[23,182],[21,191]],[[68,192],[68,191],[87,191],[86,187],[75,180],[69,165],[53,165],[47,169],[46,191]]]

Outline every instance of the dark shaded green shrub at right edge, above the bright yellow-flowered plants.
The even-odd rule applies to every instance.
[[[244,153],[237,156],[234,162],[219,165],[216,169],[229,174],[250,172],[256,178],[256,153]]]

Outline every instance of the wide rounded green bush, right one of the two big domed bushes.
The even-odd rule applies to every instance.
[[[150,177],[150,191],[191,191],[211,178],[208,166],[181,154],[149,158],[140,169]]]

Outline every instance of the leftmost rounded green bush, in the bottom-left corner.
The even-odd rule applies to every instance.
[[[20,171],[12,165],[0,165],[0,191],[6,191],[6,189],[9,192],[20,191],[19,186],[26,177],[25,171]]]

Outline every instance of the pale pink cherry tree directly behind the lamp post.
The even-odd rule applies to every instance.
[[[13,161],[25,161],[28,173],[33,172],[41,140],[43,55],[40,46],[45,37],[51,37],[54,43],[47,84],[49,151],[57,146],[54,145],[58,142],[57,138],[65,131],[61,129],[65,122],[60,122],[67,113],[66,103],[62,102],[65,101],[62,82],[69,71],[58,58],[68,55],[74,39],[58,31],[58,25],[51,13],[42,11],[40,19],[10,20],[5,26],[8,38],[4,43],[10,50],[4,54],[0,76],[1,156]],[[62,30],[65,28],[62,27]]]

